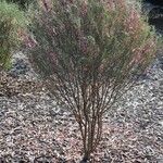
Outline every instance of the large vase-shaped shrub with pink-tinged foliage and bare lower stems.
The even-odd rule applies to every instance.
[[[156,39],[125,0],[53,0],[33,23],[30,61],[74,114],[87,161],[101,139],[104,113],[150,64]]]

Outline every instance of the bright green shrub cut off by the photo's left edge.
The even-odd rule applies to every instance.
[[[25,24],[24,12],[16,4],[0,1],[0,67],[9,67],[11,51],[18,47]]]

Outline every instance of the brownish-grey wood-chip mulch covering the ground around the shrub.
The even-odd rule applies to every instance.
[[[5,89],[4,89],[5,88]],[[103,118],[92,163],[163,163],[163,58]],[[0,76],[0,162],[78,163],[73,115],[57,105],[23,53]]]

